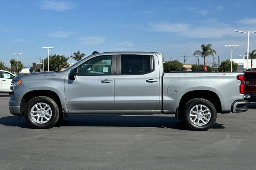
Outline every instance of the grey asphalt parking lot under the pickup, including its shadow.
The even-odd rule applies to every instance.
[[[256,104],[218,114],[208,131],[173,115],[69,116],[30,128],[0,93],[0,169],[255,169]]]

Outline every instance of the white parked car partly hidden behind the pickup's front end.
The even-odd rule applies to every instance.
[[[0,70],[0,93],[9,93],[12,95],[12,90],[10,87],[12,86],[12,79],[15,77],[12,73],[5,70]]]

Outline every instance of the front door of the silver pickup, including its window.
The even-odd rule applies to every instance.
[[[66,74],[65,97],[70,114],[115,110],[115,57],[102,55],[85,61],[77,67],[75,80],[68,79]]]

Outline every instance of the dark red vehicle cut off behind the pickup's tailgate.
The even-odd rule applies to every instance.
[[[256,102],[256,71],[245,71],[244,99]]]

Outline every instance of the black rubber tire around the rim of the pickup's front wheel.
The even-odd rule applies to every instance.
[[[50,106],[52,110],[52,116],[50,117],[48,122],[39,124],[32,120],[32,117],[30,116],[30,111],[36,103],[46,103],[48,106]],[[45,96],[35,97],[34,99],[31,99],[26,105],[25,119],[27,123],[33,128],[51,128],[58,121],[59,115],[60,115],[60,111],[59,111],[58,105],[50,97],[45,97]]]

